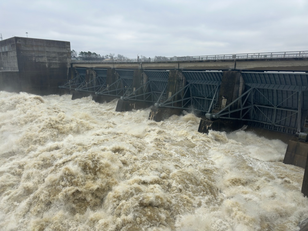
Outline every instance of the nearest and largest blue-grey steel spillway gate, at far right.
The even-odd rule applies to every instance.
[[[292,135],[301,132],[308,109],[308,74],[241,74],[246,91],[213,118],[246,120],[248,125]],[[236,103],[240,105],[238,109],[231,110]]]

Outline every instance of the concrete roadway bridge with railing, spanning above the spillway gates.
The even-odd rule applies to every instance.
[[[72,60],[72,67],[147,70],[308,71],[308,51],[155,59]]]

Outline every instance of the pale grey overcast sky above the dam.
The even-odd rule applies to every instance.
[[[69,41],[77,53],[135,59],[308,50],[308,0],[2,0],[0,7],[3,39],[28,32]]]

